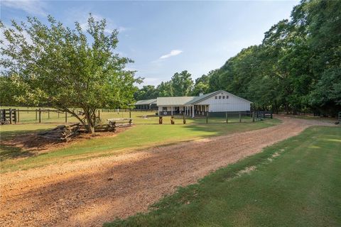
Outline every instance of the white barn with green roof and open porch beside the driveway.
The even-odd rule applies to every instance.
[[[205,112],[250,111],[251,101],[225,91],[200,96],[158,97],[159,115],[183,114],[194,117]]]

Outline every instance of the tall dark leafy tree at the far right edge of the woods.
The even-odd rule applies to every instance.
[[[341,1],[302,1],[293,10],[293,21],[308,33],[312,52],[309,103],[325,114],[341,111]]]

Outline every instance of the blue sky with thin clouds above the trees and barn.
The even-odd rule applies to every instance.
[[[117,52],[127,67],[157,85],[175,72],[193,79],[221,67],[242,48],[261,43],[264,32],[289,18],[298,1],[1,1],[1,21],[51,14],[66,26],[88,13],[119,30]]]

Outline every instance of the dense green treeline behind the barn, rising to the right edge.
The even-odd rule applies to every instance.
[[[272,26],[261,45],[243,49],[220,69],[197,78],[190,92],[178,92],[172,80],[161,83],[156,94],[224,89],[259,109],[335,115],[341,111],[341,1],[301,1],[291,20]]]

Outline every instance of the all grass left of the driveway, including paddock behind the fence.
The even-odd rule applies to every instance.
[[[58,118],[57,114],[53,114],[50,113],[50,119],[44,120],[43,118],[43,123],[36,123],[36,114],[34,112],[21,113],[21,123],[0,126],[1,140],[11,140],[15,136],[36,133],[63,124],[63,118]],[[47,114],[45,113],[43,117],[45,115]],[[102,112],[101,116],[104,120],[107,118],[127,118],[129,112]],[[251,123],[251,118],[244,117],[243,123],[237,123],[238,118],[229,118],[229,123],[224,123],[224,118],[210,118],[209,123],[205,123],[205,118],[188,118],[187,124],[183,125],[182,116],[177,116],[175,125],[171,125],[170,117],[166,116],[163,119],[163,125],[159,125],[158,117],[155,116],[154,112],[132,112],[131,117],[134,119],[136,126],[118,133],[115,137],[82,140],[70,143],[64,148],[49,150],[47,153],[36,153],[35,150],[28,151],[23,148],[1,144],[0,171],[26,170],[32,167],[91,157],[118,155],[150,148],[155,145],[179,143],[214,135],[266,128],[280,122],[277,119],[269,119]],[[77,121],[75,121],[75,118],[70,118],[68,122],[74,123]]]

